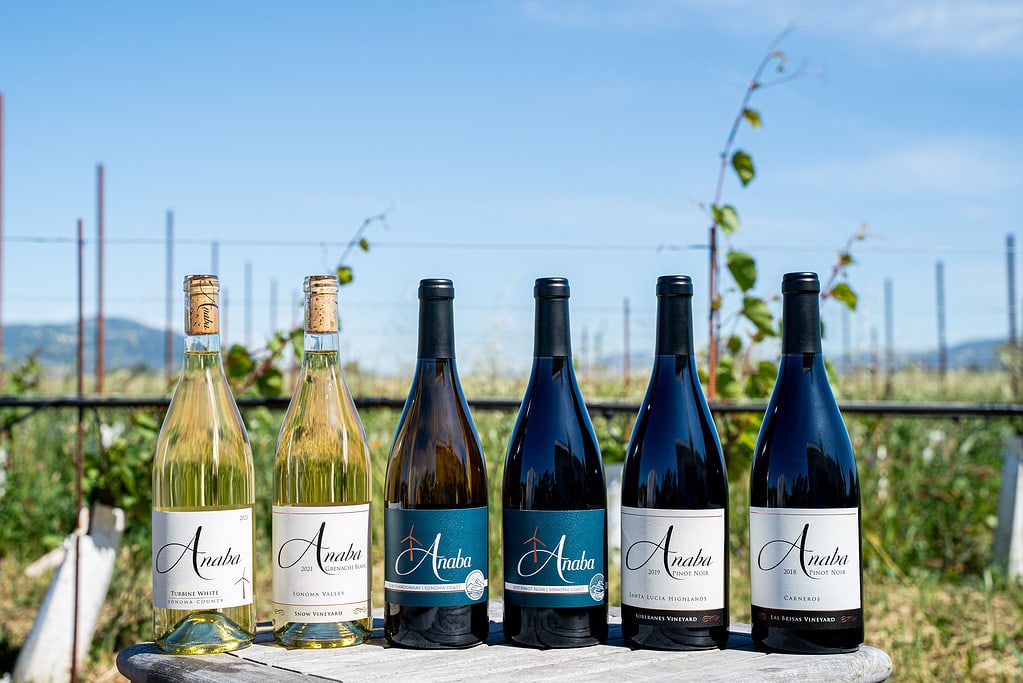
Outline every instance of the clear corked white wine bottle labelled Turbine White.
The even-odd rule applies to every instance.
[[[255,480],[220,355],[220,283],[185,278],[185,354],[152,462],[153,639],[166,652],[247,647]]]

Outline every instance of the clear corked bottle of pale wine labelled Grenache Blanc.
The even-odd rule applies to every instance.
[[[372,633],[369,447],[339,354],[338,278],[305,279],[305,340],[273,463],[273,632],[287,647]]]

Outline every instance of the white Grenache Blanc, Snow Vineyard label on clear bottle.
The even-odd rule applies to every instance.
[[[369,503],[274,505],[274,623],[350,622],[369,609]]]

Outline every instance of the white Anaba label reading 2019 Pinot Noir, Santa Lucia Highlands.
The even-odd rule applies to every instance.
[[[622,506],[622,604],[641,624],[725,623],[723,509]]]

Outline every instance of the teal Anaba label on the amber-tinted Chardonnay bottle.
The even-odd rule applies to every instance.
[[[384,509],[384,599],[445,606],[489,594],[486,507]]]

